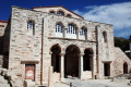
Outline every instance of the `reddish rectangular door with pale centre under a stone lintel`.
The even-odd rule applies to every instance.
[[[35,64],[25,65],[25,79],[35,80]]]

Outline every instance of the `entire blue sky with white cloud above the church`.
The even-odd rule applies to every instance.
[[[0,20],[8,21],[11,7],[63,5],[87,21],[114,25],[115,37],[131,35],[131,0],[1,0]]]

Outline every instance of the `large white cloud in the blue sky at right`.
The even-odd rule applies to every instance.
[[[112,24],[116,30],[131,28],[131,2],[90,5],[85,7],[84,12],[79,10],[74,12],[88,21]]]

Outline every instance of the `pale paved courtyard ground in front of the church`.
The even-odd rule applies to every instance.
[[[55,87],[70,87],[70,83],[72,83],[73,86],[71,87],[131,87],[128,85],[130,80],[123,79],[118,82],[112,82],[111,79],[87,79],[87,80],[81,80],[81,79],[71,79],[67,78],[64,82],[56,83]]]

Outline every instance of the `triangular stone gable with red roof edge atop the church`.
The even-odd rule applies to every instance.
[[[64,16],[71,15],[71,17],[74,17],[74,18],[83,18],[81,15],[79,15],[63,7],[36,7],[36,8],[33,8],[33,10],[41,11],[41,12],[46,12],[46,13],[50,13],[51,11],[53,11],[55,14],[57,14],[58,11],[61,11],[61,12],[63,12]]]

